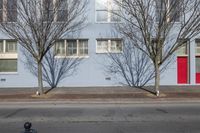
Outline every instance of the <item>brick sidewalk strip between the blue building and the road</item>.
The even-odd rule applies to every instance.
[[[153,87],[147,87],[146,90],[130,87],[67,87],[55,88],[46,95],[37,96],[36,88],[1,88],[0,102],[200,102],[200,86],[161,86],[159,97],[149,91],[153,91]]]

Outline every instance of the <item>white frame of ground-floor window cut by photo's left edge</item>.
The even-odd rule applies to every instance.
[[[0,52],[0,60],[18,60],[18,54],[17,54],[17,49],[16,52],[6,52],[6,42],[7,41],[16,41],[13,39],[6,39],[6,40],[0,40],[3,42],[3,51]],[[17,47],[17,41],[16,41],[16,47]],[[18,73],[18,66],[17,66],[17,71],[16,72],[0,72],[0,74],[17,74]]]

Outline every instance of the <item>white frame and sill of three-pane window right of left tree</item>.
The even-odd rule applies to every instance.
[[[60,40],[59,40],[60,41]],[[89,57],[89,53],[84,54],[84,55],[80,55],[79,53],[79,42],[80,41],[87,41],[87,50],[88,50],[88,39],[63,39],[62,41],[64,41],[64,46],[65,46],[65,54],[64,55],[56,55],[57,58],[88,58]],[[75,55],[67,55],[67,49],[68,49],[68,41],[76,41],[76,54]],[[56,49],[55,49],[56,51]]]

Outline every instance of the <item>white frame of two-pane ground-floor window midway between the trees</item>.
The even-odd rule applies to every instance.
[[[107,41],[108,42],[108,46],[107,46],[107,51],[104,51],[102,49],[99,49],[98,47],[98,41]],[[112,51],[111,50],[111,42],[112,41],[120,41],[121,42],[121,47],[122,47],[122,50],[121,51]],[[123,52],[123,43],[122,43],[122,39],[96,39],[96,53],[99,53],[99,54],[103,54],[103,53],[122,53]]]

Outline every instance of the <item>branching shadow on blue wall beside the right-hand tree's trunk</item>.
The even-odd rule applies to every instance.
[[[108,53],[106,71],[115,76],[122,85],[142,88],[154,78],[154,69],[149,57],[128,40],[123,41],[121,53]]]

